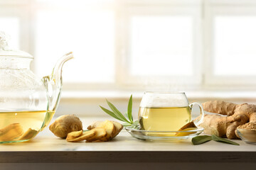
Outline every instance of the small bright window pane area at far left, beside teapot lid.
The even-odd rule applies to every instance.
[[[4,31],[10,36],[9,46],[13,49],[19,49],[19,22],[18,18],[0,18],[0,31]]]

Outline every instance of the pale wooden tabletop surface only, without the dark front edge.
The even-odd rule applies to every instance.
[[[137,140],[125,130],[110,142],[67,142],[51,134],[41,133],[30,142],[0,145],[3,151],[171,151],[171,152],[255,152],[256,145],[234,140],[240,146],[210,141],[203,145],[192,145],[191,139],[181,142],[151,142]]]

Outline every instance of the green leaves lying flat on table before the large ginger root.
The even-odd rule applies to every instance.
[[[210,140],[214,140],[216,142],[223,142],[223,143],[227,143],[227,144],[231,144],[231,145],[239,145],[237,142],[233,142],[231,140],[227,140],[225,138],[218,137],[216,135],[211,135],[211,136],[202,135],[202,136],[193,137],[191,142],[193,143],[193,145],[200,145],[205,142],[209,142]]]

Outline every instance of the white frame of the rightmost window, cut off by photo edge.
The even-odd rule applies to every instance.
[[[204,84],[206,89],[255,89],[256,76],[216,76],[213,74],[214,60],[214,17],[256,16],[256,1],[253,0],[208,0],[204,5]]]

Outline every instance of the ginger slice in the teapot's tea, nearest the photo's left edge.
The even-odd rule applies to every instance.
[[[0,130],[0,141],[11,141],[23,134],[21,124],[13,123]]]

